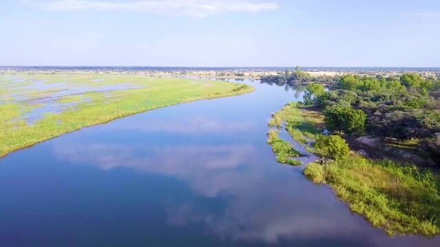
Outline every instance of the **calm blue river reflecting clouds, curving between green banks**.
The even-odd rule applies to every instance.
[[[389,238],[266,144],[293,91],[168,108],[0,159],[0,246],[439,246]]]

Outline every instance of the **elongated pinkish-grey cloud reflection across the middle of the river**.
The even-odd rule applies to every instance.
[[[252,160],[252,145],[136,146],[92,143],[55,148],[60,161],[86,163],[100,169],[129,168],[186,180],[203,196],[220,191],[243,180],[248,173],[236,173],[237,167]]]

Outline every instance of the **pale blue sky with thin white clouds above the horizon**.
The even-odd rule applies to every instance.
[[[438,0],[2,0],[0,65],[440,67]]]

